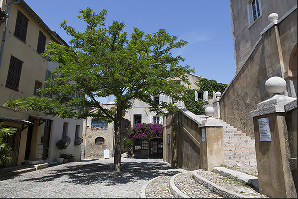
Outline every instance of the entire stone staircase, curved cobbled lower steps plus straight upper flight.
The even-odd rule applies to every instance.
[[[255,140],[223,122],[225,167],[159,176],[145,184],[140,198],[270,198],[259,193]],[[247,174],[255,170],[254,176]]]

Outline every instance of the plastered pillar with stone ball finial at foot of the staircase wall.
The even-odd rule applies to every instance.
[[[224,164],[223,151],[223,123],[220,119],[213,118],[213,107],[207,107],[205,114],[209,116],[199,124],[200,141],[200,161],[201,169],[212,171],[214,166]]]

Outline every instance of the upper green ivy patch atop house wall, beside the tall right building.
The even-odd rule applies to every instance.
[[[207,78],[201,78],[195,84],[199,87],[198,91],[204,92],[208,91],[208,96],[213,98],[213,91],[214,92],[221,92],[223,93],[224,90],[228,87],[228,84],[224,83],[217,83],[215,80],[208,80]]]

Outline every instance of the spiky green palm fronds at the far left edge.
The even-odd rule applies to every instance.
[[[2,126],[1,123],[1,137],[0,137],[0,154],[1,154],[1,165],[6,161],[11,162],[12,157],[9,156],[11,152],[11,147],[9,143],[5,143],[5,139],[13,135],[16,132],[17,128]]]

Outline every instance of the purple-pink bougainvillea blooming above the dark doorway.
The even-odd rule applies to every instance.
[[[139,123],[129,130],[128,135],[130,135],[133,139],[136,140],[145,137],[160,138],[163,137],[163,125]]]

